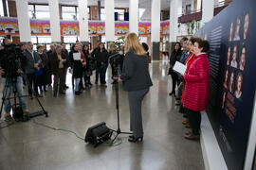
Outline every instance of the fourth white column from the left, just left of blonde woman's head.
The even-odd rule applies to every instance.
[[[115,42],[114,0],[105,0],[105,38],[106,42]]]

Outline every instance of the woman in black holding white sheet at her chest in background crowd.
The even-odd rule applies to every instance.
[[[79,51],[78,44],[72,46],[72,50],[69,53],[69,59],[71,63],[71,68],[73,69],[73,76],[75,79],[75,94],[79,95],[81,93],[79,84],[82,78],[82,67],[85,66],[85,59],[82,58],[82,54]]]

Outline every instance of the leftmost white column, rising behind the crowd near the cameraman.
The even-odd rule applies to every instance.
[[[16,8],[18,13],[18,24],[21,42],[31,42],[31,28],[28,17],[28,4],[27,0],[16,0]]]

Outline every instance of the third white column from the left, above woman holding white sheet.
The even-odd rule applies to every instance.
[[[80,41],[82,43],[89,42],[88,35],[88,15],[87,15],[87,0],[78,1],[79,8],[79,32],[80,32]]]

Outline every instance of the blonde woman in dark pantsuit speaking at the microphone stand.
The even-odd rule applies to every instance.
[[[125,53],[123,72],[119,76],[119,81],[123,81],[123,89],[128,91],[130,130],[133,131],[128,141],[136,143],[143,140],[141,103],[153,84],[148,71],[148,58],[138,42],[136,33],[127,35]]]

